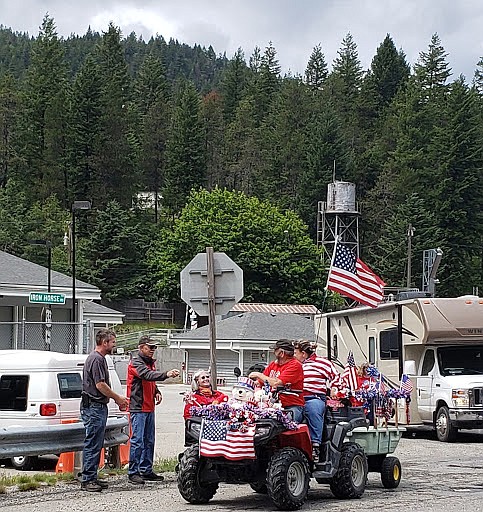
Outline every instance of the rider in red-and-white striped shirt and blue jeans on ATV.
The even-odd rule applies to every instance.
[[[327,393],[335,395],[340,374],[331,361],[315,353],[315,341],[294,342],[295,358],[304,370],[305,417],[309,426],[314,458],[318,457],[324,428],[325,401]]]

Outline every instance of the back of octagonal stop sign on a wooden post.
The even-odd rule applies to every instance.
[[[198,315],[207,316],[210,332],[211,383],[216,390],[216,315],[224,315],[243,297],[243,270],[224,252],[198,253],[181,271],[181,298]]]

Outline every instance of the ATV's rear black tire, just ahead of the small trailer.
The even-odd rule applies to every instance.
[[[364,450],[356,443],[342,446],[339,469],[330,482],[336,498],[360,498],[366,489],[367,459]]]

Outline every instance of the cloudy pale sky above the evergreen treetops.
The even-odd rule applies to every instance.
[[[64,37],[89,26],[102,32],[112,21],[123,35],[211,44],[228,57],[272,41],[283,71],[294,74],[319,43],[331,64],[348,32],[364,68],[387,33],[411,65],[438,33],[454,78],[471,81],[483,56],[481,0],[0,0],[0,24],[15,31],[37,35],[46,12]]]

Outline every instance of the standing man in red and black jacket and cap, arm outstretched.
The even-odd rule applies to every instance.
[[[155,381],[177,377],[179,370],[156,370],[153,356],[158,346],[156,340],[141,336],[138,353],[131,358],[127,368],[126,384],[131,419],[128,480],[133,484],[142,485],[145,480],[164,480],[162,475],[153,471],[154,406],[160,404],[163,398]]]

